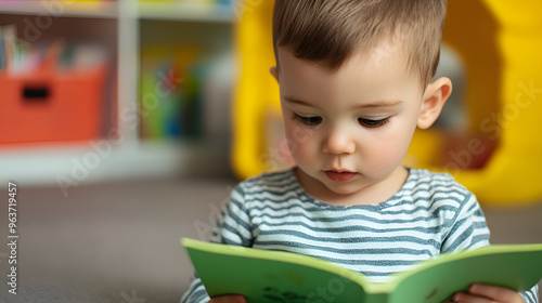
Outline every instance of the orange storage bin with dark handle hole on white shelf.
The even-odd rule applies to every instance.
[[[0,74],[0,144],[100,136],[105,66]]]

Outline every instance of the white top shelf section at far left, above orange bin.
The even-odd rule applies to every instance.
[[[118,4],[115,1],[0,1],[0,13],[50,17],[116,18]]]

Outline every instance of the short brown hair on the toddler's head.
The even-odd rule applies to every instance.
[[[275,0],[273,48],[275,56],[285,47],[335,70],[354,51],[400,38],[425,88],[437,70],[446,10],[446,0]]]

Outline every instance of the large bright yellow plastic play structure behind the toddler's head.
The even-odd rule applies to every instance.
[[[233,167],[240,177],[289,164],[276,139],[279,87],[272,0],[247,1],[236,27]],[[449,1],[443,42],[464,60],[469,133],[451,145],[437,129],[416,131],[405,164],[448,171],[482,203],[542,200],[542,1]],[[271,137],[271,140],[269,139]],[[477,166],[481,167],[474,169]]]

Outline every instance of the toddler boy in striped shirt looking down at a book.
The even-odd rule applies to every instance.
[[[452,91],[448,78],[430,82],[446,6],[446,0],[275,1],[271,74],[296,167],[242,182],[212,241],[317,256],[372,281],[489,245],[472,193],[448,174],[401,164],[416,127],[429,128]],[[453,300],[537,302],[535,291],[475,285]],[[244,302],[209,300],[196,278],[182,302]]]

